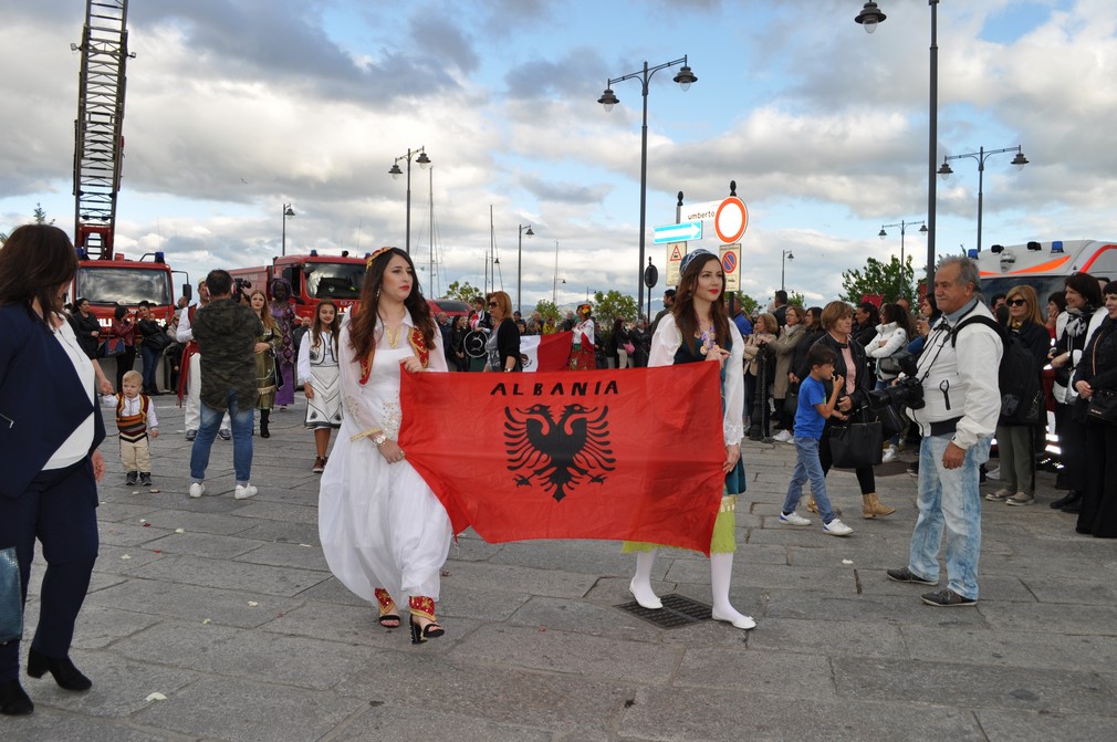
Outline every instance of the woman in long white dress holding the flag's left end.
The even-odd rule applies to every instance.
[[[308,341],[304,341],[308,342]],[[400,377],[446,371],[441,335],[411,258],[385,247],[369,257],[361,306],[338,336],[342,428],[318,495],[318,536],[330,570],[400,626],[407,597],[412,644],[442,636],[435,618],[450,520],[397,439]]]

